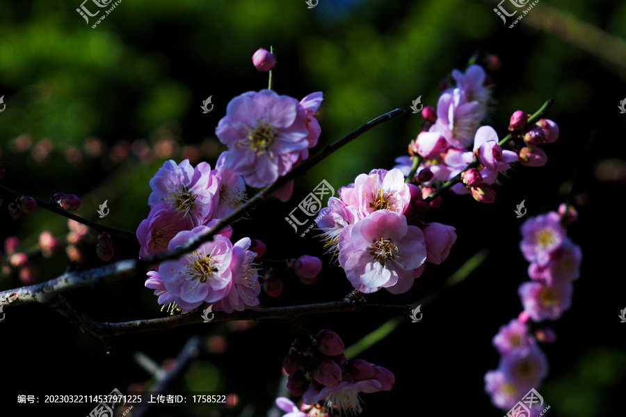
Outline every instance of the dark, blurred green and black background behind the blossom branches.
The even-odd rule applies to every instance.
[[[232,97],[266,88],[265,73],[250,57],[272,45],[278,56],[275,91],[300,99],[323,91],[319,147],[396,107],[408,110],[376,127],[316,166],[296,182],[288,203],[268,200],[234,225],[234,239],[266,242],[266,257],[321,256],[319,281],[306,287],[277,269],[280,298],[262,294],[264,306],[333,301],[351,290],[341,269],[328,264],[321,244],[296,235],[284,217],[322,179],[335,189],[372,168],[391,168],[406,154],[422,118],[410,112],[415,97],[436,105],[438,84],[453,68],[463,69],[480,49],[497,54],[492,73],[495,107],[489,123],[503,136],[517,109],[533,113],[554,98],[549,118],[561,129],[545,145],[541,168],[516,166],[484,205],[469,196],[444,196],[428,221],[457,228],[458,241],[442,265],[428,265],[406,294],[385,291],[370,299],[411,303],[437,289],[477,251],[489,258],[463,283],[422,308],[417,324],[406,320],[361,359],[394,372],[392,391],[365,394],[364,416],[396,414],[483,414],[501,416],[483,392],[483,375],[497,367],[491,339],[521,310],[517,287],[527,279],[518,249],[513,210],[525,200],[527,216],[556,210],[572,187],[586,193],[570,238],[582,247],[581,278],[572,308],[551,323],[559,340],[543,349],[549,375],[538,388],[549,415],[609,416],[623,409],[626,371],[626,308],[623,268],[623,193],[626,114],[616,109],[626,97],[626,3],[542,0],[513,29],[488,1],[332,1],[314,9],[304,1],[123,0],[95,29],[75,12],[80,1],[4,1],[0,4],[1,183],[47,200],[56,191],[81,196],[78,213],[111,226],[136,230],[147,216],[148,180],[166,159],[214,165],[224,149],[214,134]],[[93,8],[93,7],[92,7]],[[209,95],[215,107],[199,109]],[[595,139],[586,148],[592,132]],[[99,151],[93,144],[100,143]],[[171,152],[168,149],[171,148]],[[584,150],[586,149],[586,152]],[[67,221],[45,210],[10,219],[0,208],[0,238],[17,235],[28,251],[42,230],[59,237]],[[96,210],[109,201],[109,216]],[[93,239],[93,236],[91,237]],[[136,257],[135,239],[114,237],[113,260]],[[87,239],[83,268],[103,265],[95,241]],[[33,256],[38,281],[63,273],[65,253]],[[65,294],[102,321],[163,317],[143,278]],[[15,274],[0,276],[0,290],[24,285]],[[241,330],[236,324],[202,324],[115,338],[117,351],[64,317],[38,304],[5,308],[0,323],[2,415],[35,414],[16,404],[17,394],[104,395],[151,380],[134,361],[144,352],[158,363],[176,356],[193,334],[207,336],[206,349],[175,389],[232,392],[239,406],[225,416],[264,416],[279,388],[280,366],[291,343],[287,325],[264,320]],[[313,331],[332,328],[346,346],[390,317],[344,313],[305,317]],[[217,337],[217,338],[216,338]],[[211,340],[209,342],[209,340]],[[225,352],[218,349],[227,343]],[[85,416],[90,405],[58,406],[68,416]],[[40,411],[39,411],[40,410]],[[53,409],[38,409],[42,411]],[[163,416],[178,411],[159,409]],[[200,409],[197,413],[208,412]],[[246,414],[247,413],[247,414]],[[219,414],[213,414],[219,415]]]

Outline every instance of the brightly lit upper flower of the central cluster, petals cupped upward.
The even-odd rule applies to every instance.
[[[355,197],[361,217],[376,210],[403,213],[411,203],[411,193],[399,169],[374,169],[354,180]]]

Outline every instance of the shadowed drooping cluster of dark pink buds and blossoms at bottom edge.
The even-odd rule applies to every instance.
[[[303,399],[300,409],[286,398],[276,400],[280,409],[294,413],[289,417],[360,413],[359,393],[390,391],[395,382],[392,372],[381,366],[346,360],[342,339],[330,330],[305,330],[291,345],[283,367],[289,393]]]

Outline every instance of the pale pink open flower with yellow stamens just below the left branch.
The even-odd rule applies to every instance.
[[[209,229],[209,226],[198,226],[177,233],[170,241],[168,251]],[[182,258],[161,262],[159,276],[179,306],[186,303],[193,309],[203,302],[214,303],[226,297],[232,287],[232,255],[230,240],[216,235]]]

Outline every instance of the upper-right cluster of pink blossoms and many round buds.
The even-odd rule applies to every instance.
[[[481,126],[487,116],[491,96],[488,76],[480,65],[470,65],[465,73],[452,72],[456,86],[443,91],[437,110],[422,109],[423,131],[411,141],[411,157],[396,159],[404,175],[410,175],[417,159],[417,171],[412,178],[424,197],[433,189],[460,174],[462,182],[451,187],[456,194],[472,194],[482,203],[495,200],[493,184],[498,175],[520,162],[526,166],[543,166],[547,162],[541,143],[559,138],[559,127],[552,120],[528,124],[528,115],[515,111],[508,130],[511,150],[502,148],[498,135],[490,126]],[[471,150],[470,150],[471,149]]]

